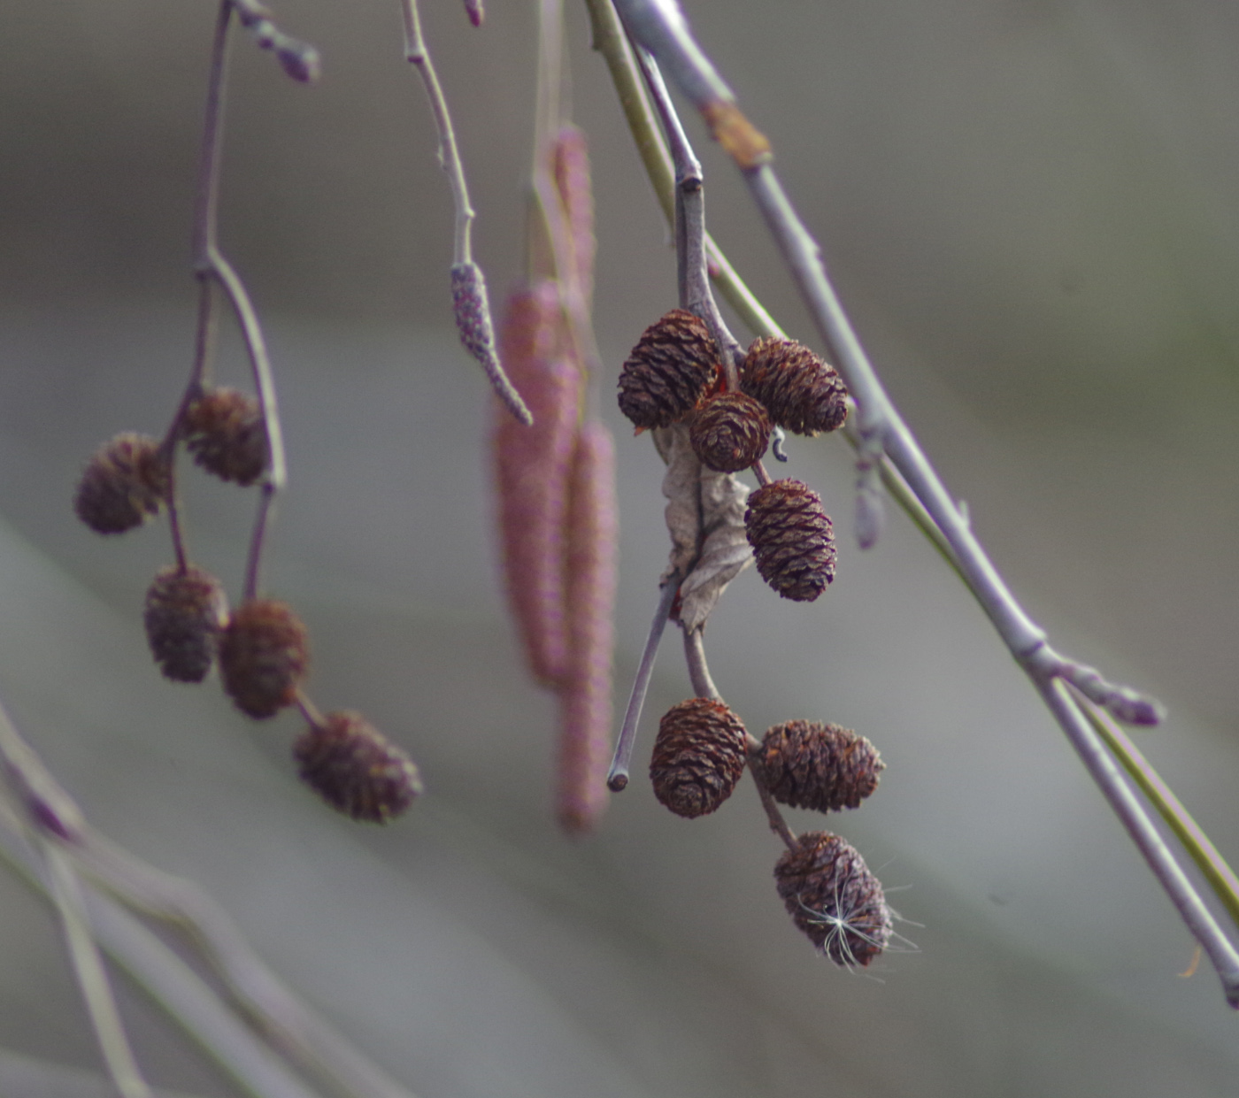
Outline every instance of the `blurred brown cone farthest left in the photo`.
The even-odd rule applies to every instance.
[[[97,534],[123,534],[167,503],[171,468],[159,440],[125,431],[104,442],[78,481],[73,509]]]

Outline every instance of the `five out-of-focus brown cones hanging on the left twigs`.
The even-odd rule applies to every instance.
[[[78,518],[99,534],[120,534],[159,516],[173,498],[173,456],[185,442],[207,472],[243,487],[269,463],[258,402],[235,389],[211,388],[185,402],[164,442],[116,435],[94,454],[77,486]],[[249,597],[229,611],[211,573],[180,563],[162,569],[146,592],[144,621],[164,675],[201,683],[218,663],[224,692],[255,720],[297,705],[310,721],[292,753],[302,780],[333,808],[384,823],[421,792],[413,760],[359,713],[320,715],[302,693],[310,635],[286,604]]]

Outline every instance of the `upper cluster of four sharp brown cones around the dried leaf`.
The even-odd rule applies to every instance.
[[[674,309],[642,333],[620,374],[620,410],[638,430],[689,420],[703,465],[738,472],[757,465],[773,428],[834,431],[847,390],[829,366],[794,340],[755,340],[729,389],[705,321]],[[764,482],[748,497],[745,530],[757,571],[779,595],[812,602],[835,578],[835,538],[821,497],[802,481]]]

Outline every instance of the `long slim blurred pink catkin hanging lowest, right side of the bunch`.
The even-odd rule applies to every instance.
[[[556,815],[589,830],[607,804],[611,761],[612,615],[616,599],[615,444],[596,421],[581,426],[572,461],[567,524],[567,678],[560,693]]]

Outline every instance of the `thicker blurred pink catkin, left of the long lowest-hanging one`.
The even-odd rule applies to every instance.
[[[508,605],[535,679],[564,678],[564,529],[580,374],[563,352],[559,288],[517,290],[499,332],[504,362],[534,415],[523,426],[496,406],[494,482]]]

